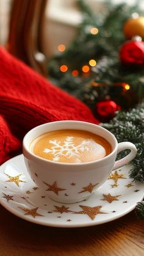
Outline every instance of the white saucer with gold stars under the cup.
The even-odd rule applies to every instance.
[[[49,199],[31,180],[23,155],[0,167],[0,203],[26,221],[52,227],[103,224],[132,211],[143,199],[144,186],[129,178],[131,164],[113,171],[98,191],[81,203],[63,204]]]

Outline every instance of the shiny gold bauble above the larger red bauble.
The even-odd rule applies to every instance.
[[[123,29],[126,38],[131,39],[134,35],[144,38],[144,17],[130,18],[124,24]]]

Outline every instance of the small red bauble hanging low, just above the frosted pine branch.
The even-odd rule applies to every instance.
[[[115,112],[121,107],[112,100],[104,100],[96,103],[96,114],[101,122],[107,122],[114,116]]]

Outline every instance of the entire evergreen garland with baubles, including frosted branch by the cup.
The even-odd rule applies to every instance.
[[[131,38],[134,27],[130,29],[129,25],[133,22],[131,14],[137,10],[140,15],[140,10],[125,4],[109,5],[103,14],[95,16],[84,1],[79,1],[79,6],[84,20],[78,36],[68,49],[48,61],[49,79],[84,101],[118,142],[135,144],[137,156],[130,177],[143,182],[144,103],[140,102],[144,97],[144,42]],[[135,21],[144,38],[144,17]],[[144,219],[144,202],[136,208],[137,216]]]

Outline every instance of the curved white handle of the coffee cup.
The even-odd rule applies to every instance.
[[[126,149],[130,149],[131,152],[127,156],[124,156],[124,158],[121,158],[120,160],[116,161],[112,170],[118,169],[121,166],[124,166],[125,164],[128,164],[137,155],[137,148],[131,142],[118,143],[117,154],[120,153],[123,150],[126,150]]]

